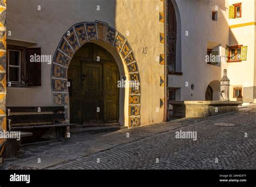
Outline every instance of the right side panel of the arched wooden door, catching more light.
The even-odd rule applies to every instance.
[[[119,71],[116,63],[104,62],[104,123],[116,123],[119,119]]]

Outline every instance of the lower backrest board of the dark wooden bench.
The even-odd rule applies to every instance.
[[[11,124],[15,123],[35,123],[42,121],[64,121],[64,113],[53,113],[53,114],[23,114],[23,115],[12,115],[8,119],[11,120]]]

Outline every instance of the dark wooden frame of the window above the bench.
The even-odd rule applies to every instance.
[[[7,83],[11,82],[11,87],[25,87],[25,49],[26,47],[7,45],[6,47],[6,79]],[[19,51],[19,81],[9,81],[9,67],[15,67],[15,65],[9,64],[9,51]]]

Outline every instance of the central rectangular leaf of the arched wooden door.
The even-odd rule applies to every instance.
[[[102,65],[82,63],[82,124],[103,120],[102,91]]]

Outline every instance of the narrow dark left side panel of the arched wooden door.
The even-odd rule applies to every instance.
[[[68,70],[68,77],[70,82],[69,100],[70,100],[70,123],[80,124],[81,115],[81,89],[80,89],[80,61],[73,59]]]

